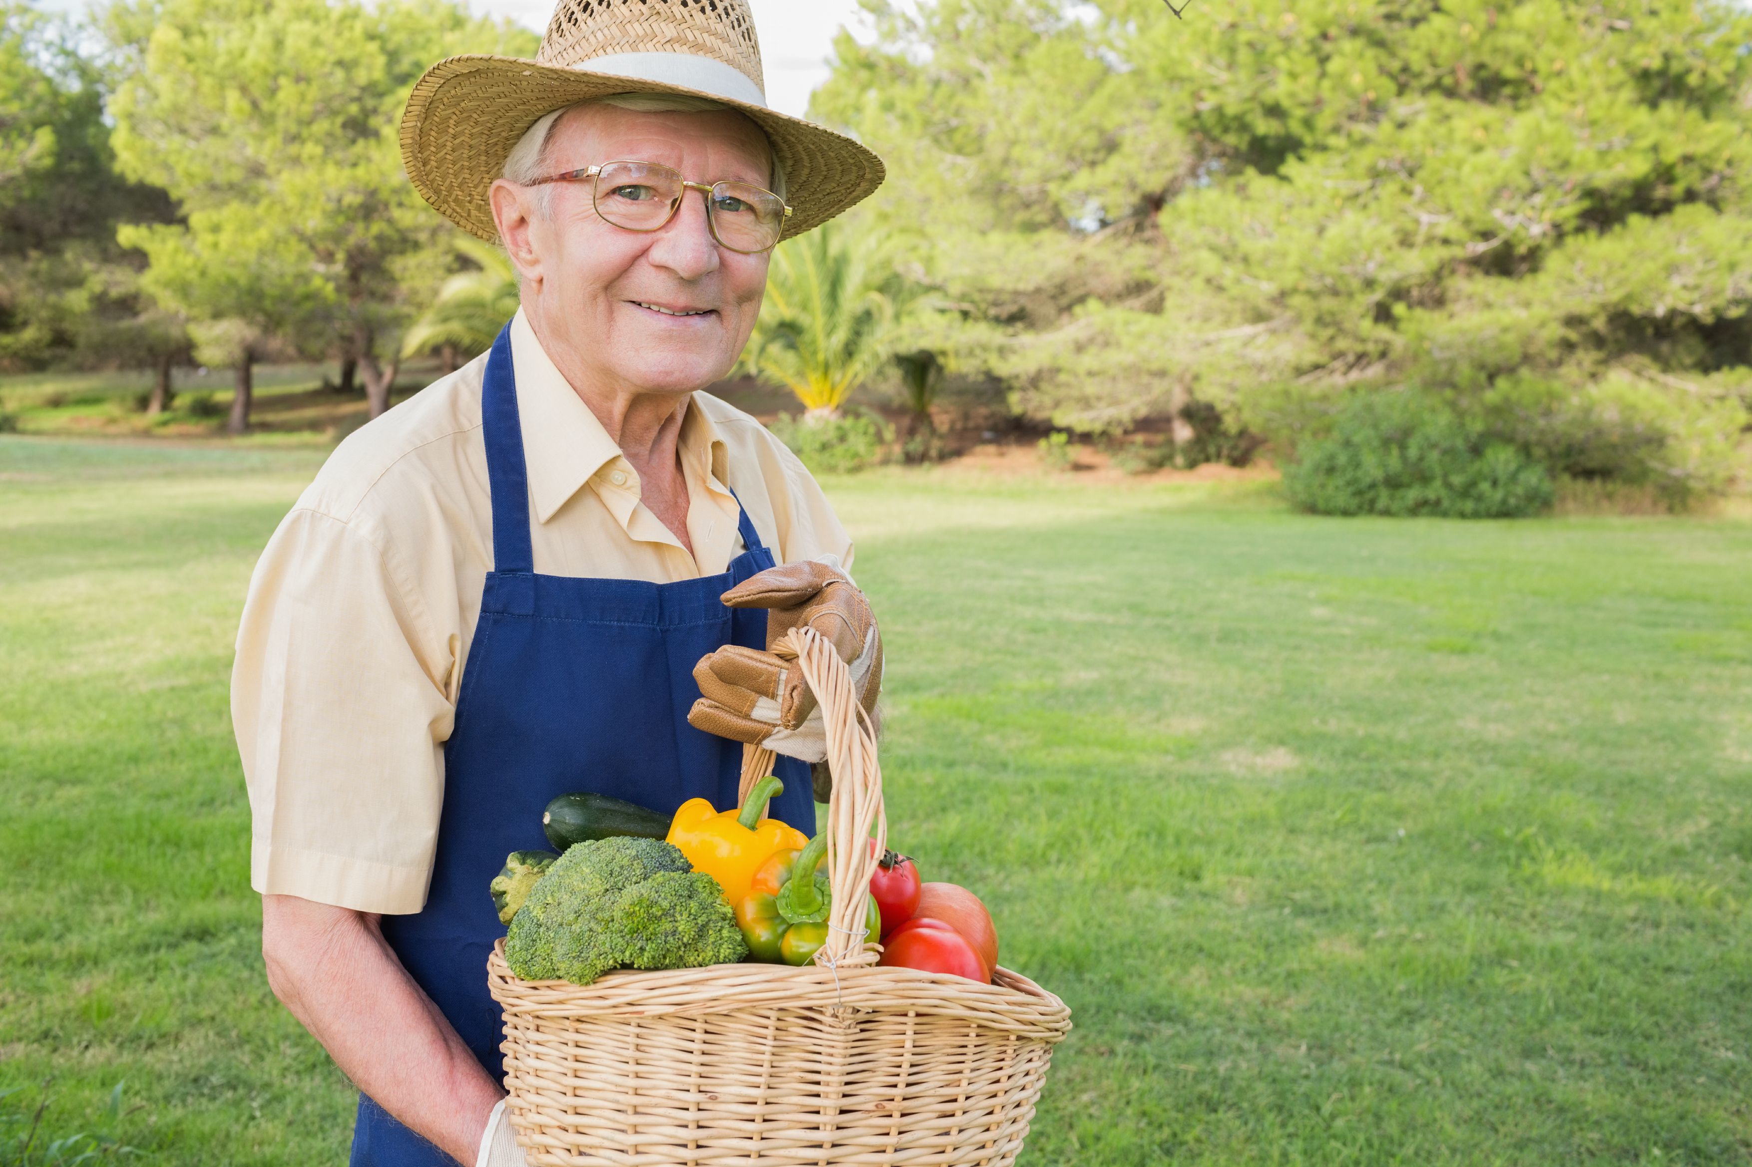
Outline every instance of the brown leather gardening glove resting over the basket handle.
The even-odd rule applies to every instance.
[[[804,762],[827,760],[827,732],[815,694],[802,683],[795,655],[778,648],[794,627],[811,627],[851,669],[864,711],[876,717],[881,692],[881,634],[871,606],[850,578],[825,562],[790,562],[724,592],[731,608],[767,610],[767,650],[725,645],[694,666],[699,701],[689,725],[732,741],[764,745]]]

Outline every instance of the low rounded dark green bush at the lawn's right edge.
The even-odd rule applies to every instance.
[[[1353,398],[1298,454],[1284,489],[1319,515],[1514,519],[1554,498],[1545,466],[1417,393]]]

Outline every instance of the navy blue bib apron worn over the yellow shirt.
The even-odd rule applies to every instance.
[[[718,596],[774,564],[745,510],[738,531],[746,550],[724,575],[676,584],[536,575],[510,328],[487,359],[482,421],[494,569],[445,743],[431,890],[419,915],[384,916],[384,939],[503,1081],[487,953],[505,925],[487,883],[508,853],[548,848],[541,810],[557,794],[590,790],[664,815],[690,797],[718,810],[736,803],[741,745],[687,724],[699,697],[694,664],[731,643],[766,648],[766,612],[725,608]],[[767,813],[813,834],[809,767],[780,759],[778,773],[785,794]],[[452,1160],[361,1095],[350,1163]]]

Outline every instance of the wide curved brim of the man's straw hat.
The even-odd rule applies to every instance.
[[[512,56],[452,56],[413,86],[401,116],[401,163],[420,196],[470,235],[498,242],[487,191],[519,138],[545,114],[617,93],[701,96],[746,114],[785,168],[783,238],[820,226],[881,186],[881,159],[825,126],[718,93]]]

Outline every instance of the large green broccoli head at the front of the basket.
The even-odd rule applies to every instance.
[[[717,880],[661,839],[566,848],[512,916],[505,960],[531,981],[589,985],[620,965],[690,969],[748,955]]]

